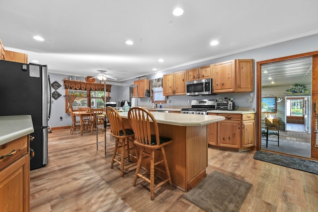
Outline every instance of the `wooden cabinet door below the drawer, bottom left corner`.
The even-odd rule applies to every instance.
[[[29,160],[29,155],[25,154],[0,171],[1,211],[28,212],[30,210]]]

